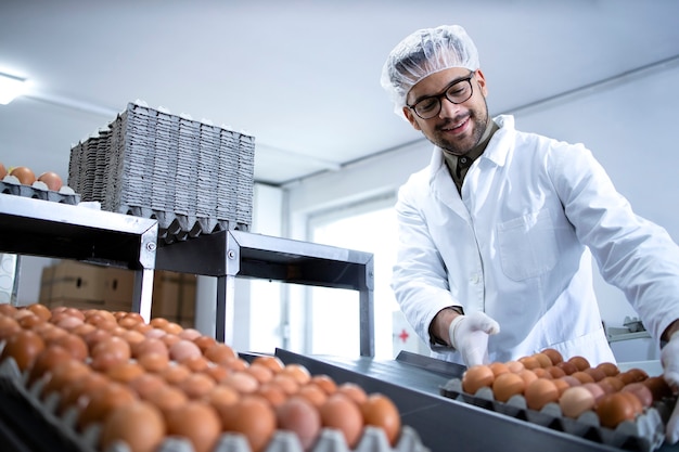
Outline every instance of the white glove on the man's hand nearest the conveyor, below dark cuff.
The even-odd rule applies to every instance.
[[[467,367],[489,362],[488,336],[498,333],[500,333],[498,322],[481,311],[472,312],[469,315],[458,315],[448,328],[450,344],[462,354]],[[677,375],[679,376],[679,374]]]

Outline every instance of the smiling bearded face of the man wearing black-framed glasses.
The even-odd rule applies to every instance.
[[[469,69],[462,67],[434,73],[412,87],[407,102],[414,105],[423,98],[441,94],[451,82],[469,75]],[[461,104],[453,104],[445,96],[439,98],[440,112],[433,118],[422,119],[408,106],[403,107],[406,118],[415,130],[422,131],[432,143],[454,155],[464,155],[478,144],[488,125],[488,90],[481,69],[470,81],[472,96]]]

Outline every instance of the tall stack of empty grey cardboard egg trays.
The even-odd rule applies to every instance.
[[[68,183],[102,209],[158,220],[170,243],[249,230],[255,139],[129,103],[71,150]]]

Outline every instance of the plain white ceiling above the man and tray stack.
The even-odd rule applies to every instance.
[[[254,135],[256,181],[338,169],[421,139],[380,73],[444,23],[476,41],[494,114],[679,57],[675,0],[2,0],[0,72],[31,92],[0,105],[0,162],[65,176],[139,99]]]

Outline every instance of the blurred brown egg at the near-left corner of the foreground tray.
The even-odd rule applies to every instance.
[[[154,452],[165,439],[165,419],[161,411],[144,401],[114,409],[106,417],[100,437],[102,450],[123,441],[131,452]]]

